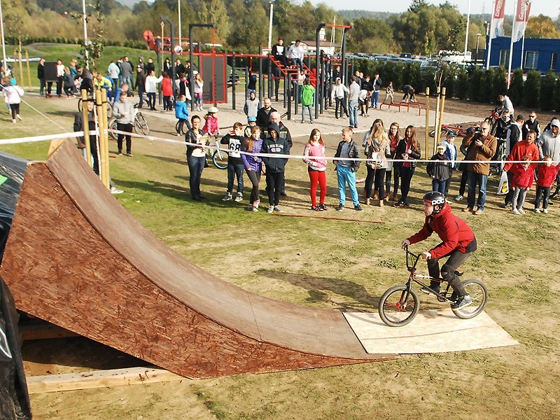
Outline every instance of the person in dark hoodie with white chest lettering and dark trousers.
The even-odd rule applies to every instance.
[[[288,144],[286,137],[280,137],[280,127],[278,124],[272,123],[268,127],[268,137],[262,141],[261,152],[272,155],[290,154],[290,144]],[[266,175],[269,204],[267,213],[272,213],[273,211],[281,212],[282,209],[279,207],[280,193],[284,180],[284,167],[288,159],[263,156],[262,162],[264,162],[267,167]]]

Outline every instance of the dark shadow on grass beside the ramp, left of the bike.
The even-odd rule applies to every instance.
[[[373,297],[364,286],[353,281],[269,269],[260,269],[257,274],[307,289],[309,297],[306,300],[310,303],[326,302],[343,311],[377,311],[379,304],[379,297]],[[328,292],[350,297],[354,302],[337,302],[329,297]]]

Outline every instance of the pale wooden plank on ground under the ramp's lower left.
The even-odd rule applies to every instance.
[[[126,369],[27,377],[27,390],[29,394],[36,394],[110,386],[153,384],[155,382],[180,381],[181,379],[186,378],[159,367],[129,367]]]

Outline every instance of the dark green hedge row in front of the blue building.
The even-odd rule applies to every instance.
[[[446,88],[446,97],[468,99],[473,102],[496,104],[498,94],[505,93],[514,105],[525,106],[541,111],[560,111],[560,78],[552,71],[541,75],[538,71],[529,71],[524,79],[521,69],[514,70],[510,89],[507,90],[506,71],[482,69],[479,66],[465,71],[457,66],[445,66],[442,71],[421,69],[418,64],[397,64],[393,62],[376,63],[367,60],[355,61],[356,69],[364,74],[379,73],[384,86],[392,80],[395,89],[412,85],[416,92],[435,94],[440,78]]]

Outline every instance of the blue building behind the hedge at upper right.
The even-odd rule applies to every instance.
[[[507,66],[510,62],[509,36],[493,38],[490,45],[490,66]],[[513,43],[512,70],[521,66],[521,45],[523,40]],[[488,50],[486,41],[486,51]],[[560,39],[525,38],[523,50],[524,71],[537,70],[542,73],[560,73]],[[484,57],[486,59],[486,57]]]

